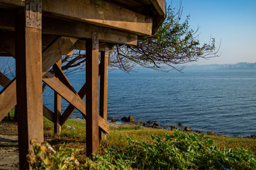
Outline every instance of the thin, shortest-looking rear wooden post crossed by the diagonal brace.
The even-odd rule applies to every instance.
[[[59,60],[57,66],[61,68],[62,60]],[[58,74],[56,74],[58,77]],[[60,134],[61,125],[60,125],[60,118],[61,118],[61,96],[54,91],[54,111],[55,111],[55,118],[54,118],[54,133],[55,135]]]

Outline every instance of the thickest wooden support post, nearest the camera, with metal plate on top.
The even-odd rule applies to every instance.
[[[30,169],[26,160],[30,140],[43,142],[42,16],[41,0],[26,0],[16,13],[16,93],[20,169]]]

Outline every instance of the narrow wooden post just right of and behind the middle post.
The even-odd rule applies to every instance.
[[[104,120],[107,118],[107,105],[108,105],[108,47],[105,48],[104,52],[101,52],[101,81],[100,81],[100,105],[99,115]],[[106,140],[106,134],[99,129],[99,139]]]

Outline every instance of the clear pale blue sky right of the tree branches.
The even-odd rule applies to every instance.
[[[167,0],[167,6],[172,0]],[[180,0],[173,0],[174,7]],[[199,42],[215,38],[221,42],[221,57],[201,59],[192,64],[235,64],[256,62],[256,0],[183,0],[183,16],[199,27]]]

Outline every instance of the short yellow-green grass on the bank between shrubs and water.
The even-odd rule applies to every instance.
[[[61,144],[65,144],[66,146],[72,147],[79,145],[79,142],[83,142],[86,140],[85,137],[85,123],[76,121],[76,120],[67,120],[65,125],[62,126],[62,132],[60,135],[53,134],[53,123],[50,120],[44,119],[44,127],[45,127],[45,138],[52,139],[50,143],[57,144],[57,142],[61,142]],[[74,129],[67,128],[67,126],[71,126]],[[47,128],[50,128],[48,130]],[[125,127],[125,128],[109,128],[109,134],[107,135],[107,140],[105,142],[101,142],[101,147],[109,147],[109,146],[118,146],[121,148],[125,148],[128,145],[126,137],[130,137],[132,140],[145,141],[147,143],[152,143],[152,138],[150,135],[157,135],[159,137],[165,137],[165,132],[169,132],[172,134],[172,130],[162,130],[162,129],[153,129],[153,128],[142,128],[141,126],[134,127]],[[256,152],[256,140],[243,138],[243,137],[218,137],[218,136],[208,136],[213,140],[216,145],[223,149],[224,146],[226,148],[240,148],[250,150],[252,152]],[[56,142],[54,142],[57,140]],[[60,146],[60,145],[57,145]],[[81,145],[82,149],[85,149],[84,145]]]

